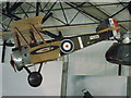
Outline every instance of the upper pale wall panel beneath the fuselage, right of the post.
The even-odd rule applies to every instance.
[[[111,45],[111,41],[102,41],[70,54],[70,74],[118,75],[118,64],[109,63],[105,58]],[[129,66],[122,66],[122,75],[129,75]]]

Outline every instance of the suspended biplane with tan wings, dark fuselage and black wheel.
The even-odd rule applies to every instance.
[[[35,16],[12,22],[10,25],[12,30],[10,33],[3,32],[4,40],[8,39],[9,35],[14,37],[15,47],[12,48],[10,61],[12,68],[14,71],[25,69],[29,74],[28,83],[33,87],[41,84],[40,70],[43,63],[114,38],[120,28],[116,20],[107,19],[98,24],[96,33],[64,37],[60,30],[59,35],[55,35],[49,30],[41,29],[43,17]],[[45,35],[52,39],[46,40]],[[38,71],[31,72],[28,68],[38,63],[40,64]]]

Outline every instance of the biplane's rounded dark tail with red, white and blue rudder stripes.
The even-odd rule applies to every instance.
[[[106,32],[109,32],[111,34],[110,37],[112,37],[112,36],[116,36],[119,33],[119,29],[117,27],[119,27],[119,24],[116,20],[107,19],[98,25],[98,27],[96,28],[96,32],[99,33],[100,30],[111,28],[111,29],[106,30]]]

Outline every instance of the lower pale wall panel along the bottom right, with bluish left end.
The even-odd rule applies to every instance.
[[[82,90],[92,96],[127,96],[126,76],[73,76],[68,85],[68,96],[83,96]]]

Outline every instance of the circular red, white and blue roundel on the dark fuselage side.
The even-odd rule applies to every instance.
[[[70,39],[63,39],[61,41],[61,48],[60,49],[63,53],[70,53],[74,50],[74,44]]]

